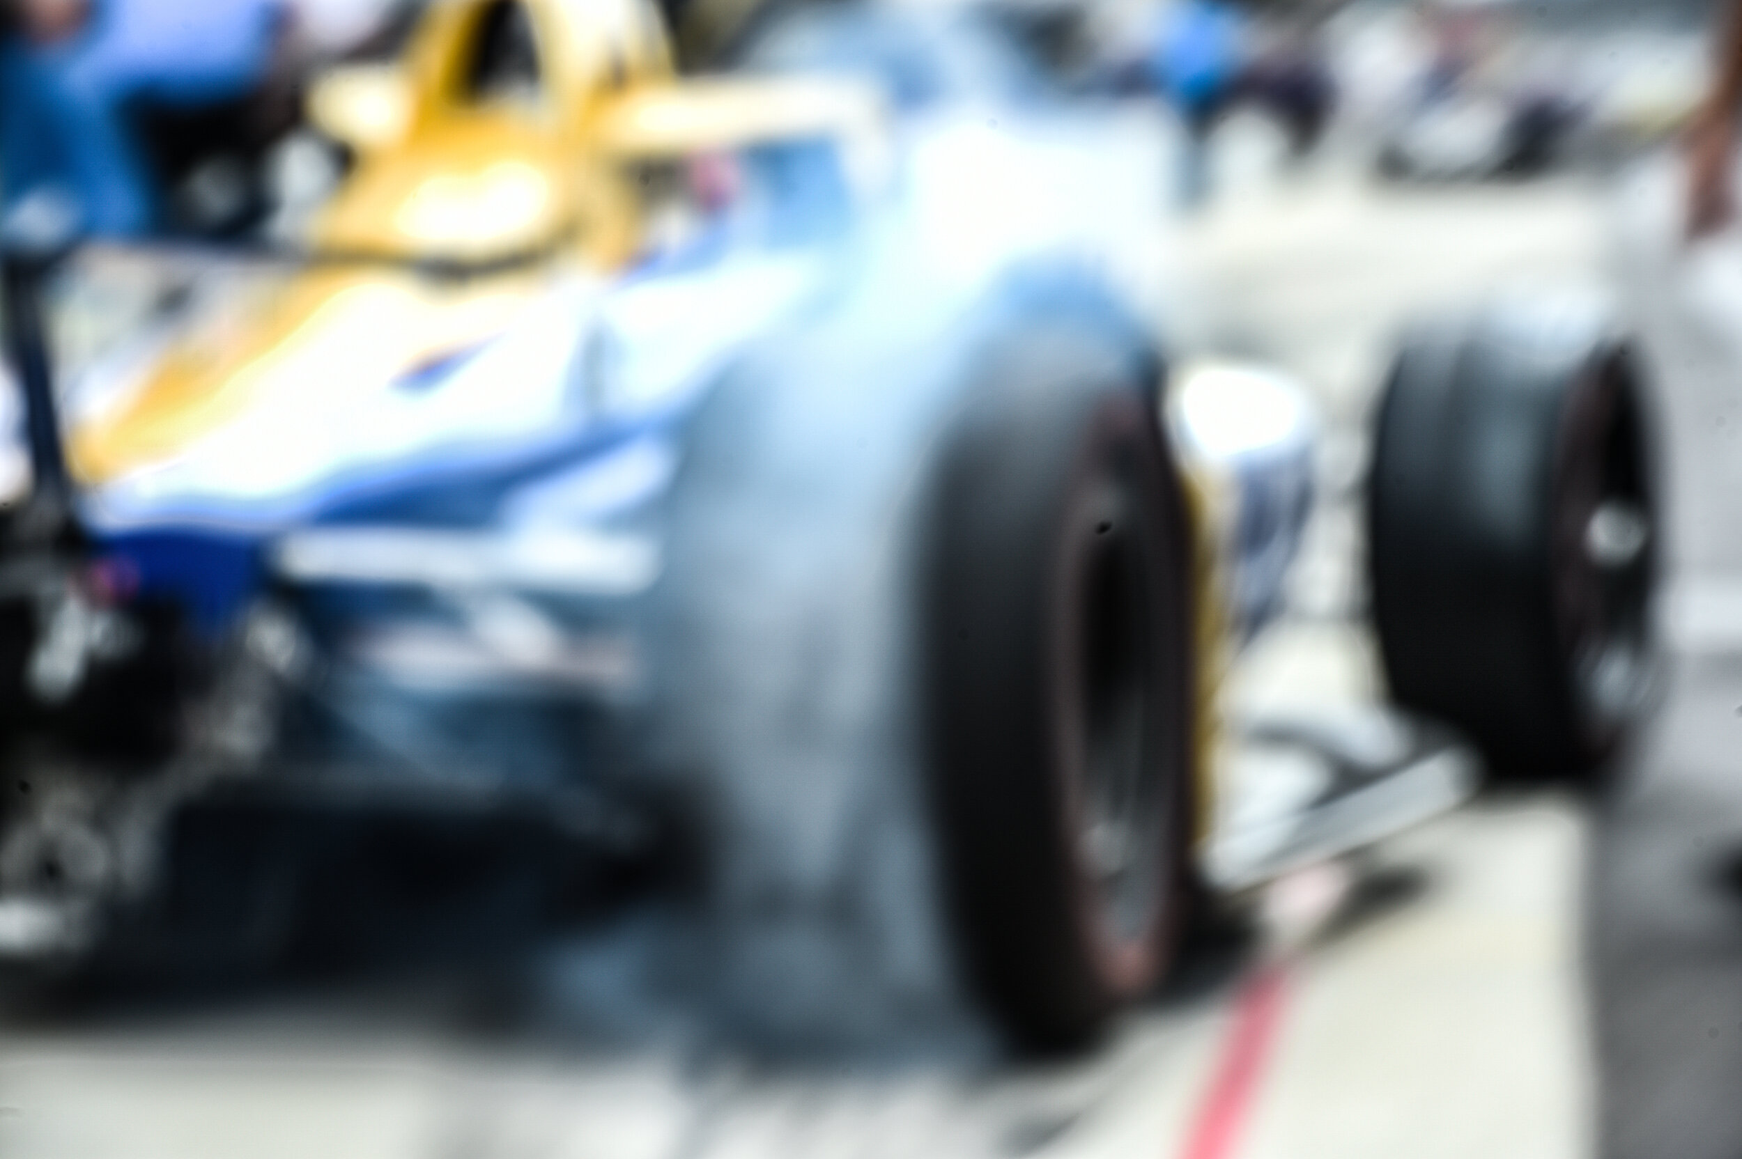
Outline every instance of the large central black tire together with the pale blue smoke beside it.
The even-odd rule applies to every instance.
[[[1155,360],[1101,322],[787,341],[699,416],[650,743],[739,1037],[1068,1048],[1164,968],[1188,536]]]

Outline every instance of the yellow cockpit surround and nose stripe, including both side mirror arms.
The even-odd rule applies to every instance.
[[[526,17],[537,84],[477,90],[474,66],[505,2]],[[357,162],[307,244],[352,265],[287,270],[190,325],[122,404],[77,426],[82,482],[160,463],[268,385],[294,388],[284,367],[361,317],[357,303],[381,312],[359,334],[371,365],[383,350],[397,358],[392,374],[476,345],[559,268],[632,261],[658,228],[636,165],[798,132],[862,137],[876,113],[845,82],[679,84],[645,0],[434,0],[397,64],[327,82],[310,111],[347,124],[348,136],[334,132]],[[394,258],[514,259],[514,271],[420,287],[381,261]]]

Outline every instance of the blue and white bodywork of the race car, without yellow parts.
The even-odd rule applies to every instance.
[[[768,419],[782,463],[801,466],[793,486],[770,482],[777,505],[719,531],[770,552],[906,519],[963,362],[1017,306],[1094,313],[1155,355],[1160,392],[1183,292],[1165,150],[1146,111],[958,103],[894,125],[876,181],[791,184],[850,191],[850,212],[773,216],[824,228],[747,230],[610,278],[557,268],[498,334],[409,374],[369,358],[368,325],[336,327],[273,371],[294,390],[80,496],[105,599],[171,606],[192,628],[195,740],[148,809],[117,787],[52,820],[19,814],[0,841],[150,846],[117,827],[199,830],[178,809],[218,799],[230,832],[237,801],[315,792],[354,813],[411,797],[505,825],[517,809],[578,818],[596,847],[645,856],[646,827],[598,790],[634,776],[625,722],[660,675],[648,606],[676,566],[671,508],[695,486],[699,416],[770,367],[826,369],[782,386]],[[111,365],[103,378],[89,397],[115,397]],[[1219,571],[1249,637],[1280,607],[1310,505],[1310,411],[1280,379],[1228,371],[1183,379],[1157,414],[1212,479]],[[831,580],[843,586],[890,567],[881,548],[843,559],[857,560]],[[103,660],[68,633],[63,686]],[[24,907],[0,922],[0,943],[24,931],[0,950],[82,943],[99,903],[146,894],[159,870],[110,858],[77,882],[84,908],[0,882],[0,915]]]

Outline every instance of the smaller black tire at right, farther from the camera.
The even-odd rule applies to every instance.
[[[1646,430],[1637,364],[1590,305],[1425,325],[1392,367],[1367,484],[1385,675],[1502,780],[1589,774],[1644,710]]]

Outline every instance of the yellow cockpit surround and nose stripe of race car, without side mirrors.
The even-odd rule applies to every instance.
[[[221,303],[178,339],[129,399],[78,425],[71,459],[101,484],[162,461],[253,405],[298,353],[355,325],[406,367],[500,329],[540,277],[582,261],[610,270],[639,249],[634,191],[589,148],[598,106],[667,85],[664,31],[638,0],[519,0],[531,23],[540,92],[476,99],[465,71],[490,0],[437,0],[399,80],[404,136],[362,153],[310,230],[317,251],[355,256],[490,259],[538,252],[514,273],[442,284],[385,266],[310,266]]]

